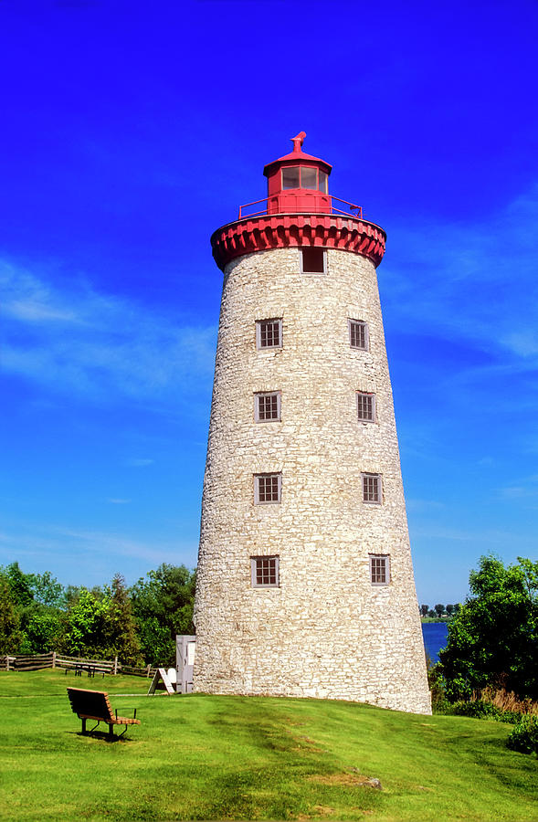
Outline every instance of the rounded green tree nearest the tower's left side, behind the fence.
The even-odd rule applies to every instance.
[[[195,633],[195,571],[162,564],[132,585],[130,594],[146,662],[174,665],[175,635]]]

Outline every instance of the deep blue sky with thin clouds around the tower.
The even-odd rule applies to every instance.
[[[378,269],[419,601],[537,558],[535,2],[0,4],[0,564],[195,565],[209,236],[307,132]]]

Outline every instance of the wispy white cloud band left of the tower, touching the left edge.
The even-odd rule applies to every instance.
[[[198,327],[77,281],[47,283],[0,261],[2,367],[50,391],[154,402],[210,379],[216,327]]]

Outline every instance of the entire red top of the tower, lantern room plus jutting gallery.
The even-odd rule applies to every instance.
[[[341,248],[375,266],[381,262],[385,231],[364,220],[360,205],[329,194],[332,166],[302,151],[305,137],[304,132],[293,137],[293,151],[265,166],[268,196],[241,205],[236,222],[213,233],[219,269],[244,254],[273,248]]]

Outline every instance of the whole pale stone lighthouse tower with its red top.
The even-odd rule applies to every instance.
[[[429,713],[376,266],[385,232],[302,151],[211,237],[224,289],[194,690]],[[247,213],[246,213],[247,212]]]

